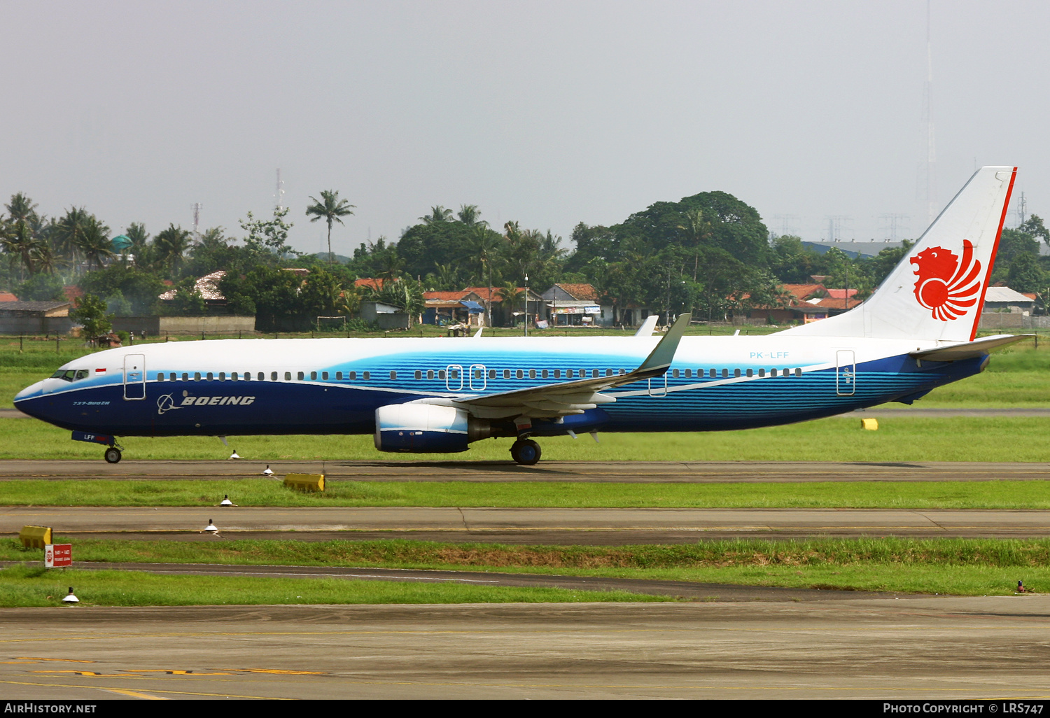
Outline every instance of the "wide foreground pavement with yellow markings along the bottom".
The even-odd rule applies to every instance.
[[[3,609],[0,692],[1045,698],[1050,597]]]

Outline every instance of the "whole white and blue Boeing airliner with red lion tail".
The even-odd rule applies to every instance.
[[[119,437],[373,434],[380,451],[464,451],[514,437],[714,431],[910,404],[1022,339],[976,339],[1014,167],[984,167],[867,301],[766,336],[254,339],[90,354],[15,397],[105,445]],[[653,319],[653,318],[650,318]]]

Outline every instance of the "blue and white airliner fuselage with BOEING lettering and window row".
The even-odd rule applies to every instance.
[[[143,344],[87,355],[20,392],[58,426],[114,436],[372,434],[376,409],[628,373],[657,337],[254,339]],[[933,341],[684,337],[667,374],[606,394],[576,430],[709,431],[910,402],[986,357],[917,361]],[[597,373],[597,374],[595,374]],[[536,435],[565,432],[538,426]]]

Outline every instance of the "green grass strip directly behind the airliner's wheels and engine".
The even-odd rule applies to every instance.
[[[1044,438],[1050,418],[895,417],[878,431],[860,428],[860,415],[740,431],[601,434],[600,443],[540,439],[544,461],[1026,461],[1050,460]],[[0,459],[102,460],[102,448],[71,441],[69,431],[36,419],[0,419]],[[230,449],[214,437],[122,437],[124,458],[225,460]],[[509,461],[511,439],[487,439],[462,453],[380,453],[371,436],[230,437],[245,472],[281,460]],[[259,464],[256,468],[255,465]],[[543,463],[540,464],[540,467]]]

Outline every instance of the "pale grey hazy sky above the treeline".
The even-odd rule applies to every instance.
[[[13,2],[0,0],[0,197],[113,230],[239,236],[275,171],[357,206],[348,254],[433,205],[498,226],[613,224],[724,190],[777,232],[926,226],[926,4],[880,2]],[[1050,213],[1050,3],[932,2],[938,205],[1018,165]],[[1011,221],[1014,221],[1011,215]],[[116,233],[116,231],[114,231]]]

